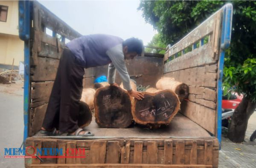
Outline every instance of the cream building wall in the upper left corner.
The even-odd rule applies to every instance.
[[[18,1],[0,1],[0,5],[8,6],[6,22],[0,21],[0,64],[18,66],[24,60],[24,42],[19,38]]]

